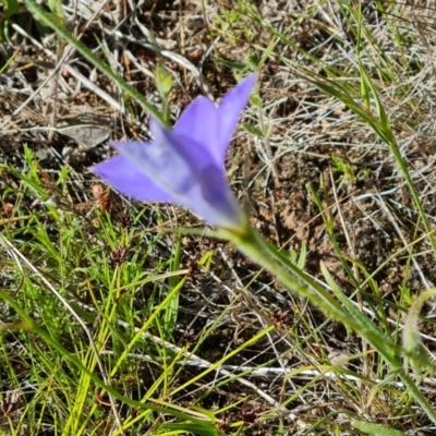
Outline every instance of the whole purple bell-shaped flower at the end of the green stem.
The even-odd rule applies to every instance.
[[[225,158],[241,112],[256,82],[247,76],[217,108],[197,97],[174,129],[150,119],[153,141],[118,141],[119,153],[93,171],[117,191],[147,202],[183,205],[228,230],[245,226],[245,216],[226,181]]]

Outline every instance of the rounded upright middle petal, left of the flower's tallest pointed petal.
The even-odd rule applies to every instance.
[[[219,165],[225,165],[226,153],[222,156],[218,144],[218,108],[208,98],[195,98],[180,116],[174,132],[203,144]]]

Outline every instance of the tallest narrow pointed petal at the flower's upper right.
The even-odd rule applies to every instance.
[[[242,111],[249,102],[250,95],[256,84],[257,74],[245,77],[237,87],[227,93],[219,105],[218,132],[219,149],[226,157],[227,147],[237,129]]]

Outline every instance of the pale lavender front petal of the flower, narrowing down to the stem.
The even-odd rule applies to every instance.
[[[117,142],[113,147],[173,202],[184,205],[213,225],[240,227],[243,214],[226,181],[221,165],[191,137],[150,120],[153,143]]]

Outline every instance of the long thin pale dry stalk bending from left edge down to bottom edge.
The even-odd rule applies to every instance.
[[[16,250],[15,246],[11,242],[9,242],[9,240],[7,238],[4,238],[1,233],[0,233],[0,244],[4,247],[4,250],[10,252],[11,255],[14,257],[15,262],[17,263],[17,265],[20,265],[19,268],[20,268],[21,272],[22,274],[24,272],[23,268],[21,266],[21,262],[23,262],[27,266],[27,268],[32,272],[34,272],[41,280],[41,282],[50,290],[50,292],[52,292],[52,294],[64,305],[64,307],[74,317],[74,319],[81,325],[81,327],[83,328],[83,330],[85,331],[85,334],[86,334],[86,336],[88,338],[89,346],[94,351],[95,358],[97,360],[98,367],[99,367],[100,373],[101,373],[101,378],[105,382],[105,385],[110,386],[110,384],[109,384],[109,382],[108,382],[108,379],[106,377],[105,366],[104,366],[102,361],[101,361],[101,359],[99,356],[97,347],[96,347],[96,344],[94,342],[93,335],[90,334],[90,331],[88,330],[88,328],[86,327],[86,325],[82,320],[82,318],[75,313],[73,307],[71,307],[70,303],[44,277],[44,275],[41,272],[39,272],[39,270],[29,261],[27,261],[27,258],[19,250]],[[114,399],[113,399],[113,397],[112,397],[112,395],[110,392],[108,392],[108,396],[109,396],[112,413],[113,413],[113,416],[116,417],[116,421],[117,421],[117,424],[119,426],[119,429],[120,429],[121,434],[124,434],[123,429],[122,429],[121,419],[120,419],[120,415],[118,414],[118,411],[117,411],[117,403],[116,403],[116,401],[114,401]]]

